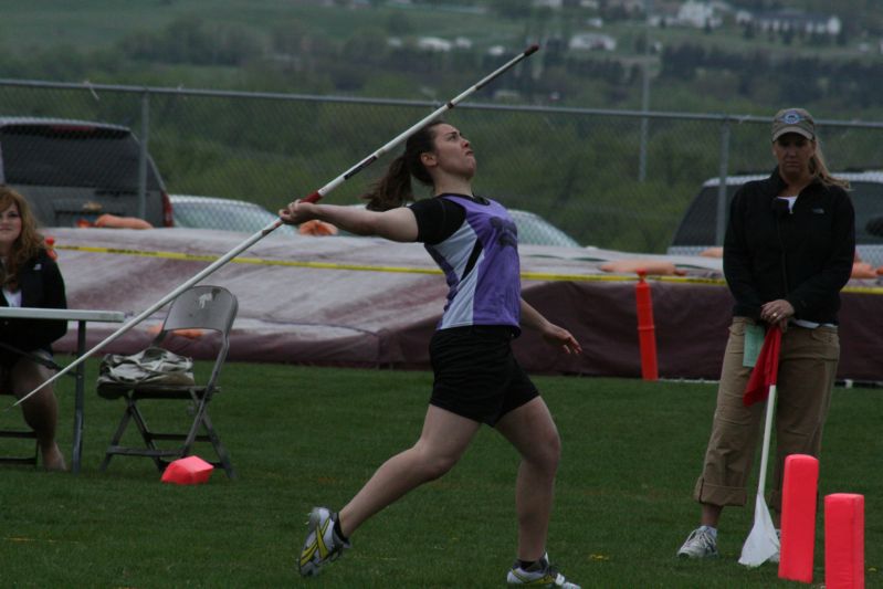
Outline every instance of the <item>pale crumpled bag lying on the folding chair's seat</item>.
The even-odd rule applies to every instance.
[[[193,359],[150,346],[138,354],[108,354],[98,368],[98,387],[134,385],[196,385]]]

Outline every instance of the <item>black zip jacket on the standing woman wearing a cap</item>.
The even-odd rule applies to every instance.
[[[760,305],[785,298],[798,319],[837,324],[855,252],[852,200],[844,189],[816,181],[788,212],[774,203],[786,186],[776,168],[733,198],[724,240],[733,313],[758,319]]]

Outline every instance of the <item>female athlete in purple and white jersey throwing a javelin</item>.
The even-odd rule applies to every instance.
[[[349,548],[349,537],[366,519],[451,470],[486,423],[522,459],[517,560],[508,583],[579,589],[549,564],[546,553],[560,439],[512,353],[512,339],[524,325],[567,354],[582,350],[567,329],[522,299],[515,223],[498,202],[473,194],[475,168],[469,140],[434,120],[408,139],[404,154],[365,196],[366,209],[295,201],[280,211],[290,224],[318,219],[359,235],[422,242],[450,287],[429,345],[434,382],[420,439],[385,462],[339,512],[313,509],[298,562],[303,576],[317,574]],[[402,207],[414,200],[411,176],[431,186],[434,197]]]

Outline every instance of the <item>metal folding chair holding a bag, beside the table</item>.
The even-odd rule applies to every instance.
[[[181,293],[171,304],[168,316],[153,341],[153,346],[162,347],[166,336],[176,329],[211,329],[220,334],[218,356],[214,360],[211,376],[203,383],[196,385],[107,385],[98,386],[98,395],[105,399],[123,399],[126,410],[119,425],[114,433],[111,444],[101,464],[101,470],[107,469],[111,459],[115,455],[148,456],[153,459],[157,469],[162,472],[176,459],[193,453],[196,442],[209,442],[218,455],[218,461],[208,461],[216,467],[222,467],[230,478],[235,477],[230,457],[209,418],[208,406],[216,392],[219,392],[218,377],[227,359],[230,347],[230,329],[233,326],[238,309],[236,297],[227,288],[220,286],[193,286]],[[192,411],[193,420],[186,433],[159,433],[148,428],[140,401],[187,401]],[[120,440],[129,424],[134,421],[144,440],[145,446],[120,445]],[[202,430],[204,433],[199,433]],[[177,441],[175,448],[160,448],[157,441]],[[166,444],[168,445],[168,444]]]

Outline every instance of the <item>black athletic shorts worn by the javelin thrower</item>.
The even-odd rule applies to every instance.
[[[430,404],[494,425],[539,396],[512,353],[515,329],[452,327],[435,332],[429,355],[435,380]]]

